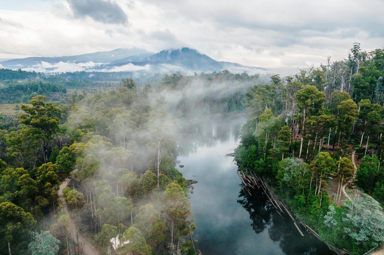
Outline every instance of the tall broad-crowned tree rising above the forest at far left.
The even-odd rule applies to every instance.
[[[20,114],[20,124],[25,124],[37,130],[41,137],[41,149],[44,155],[44,162],[48,162],[48,143],[52,140],[53,135],[58,131],[60,119],[56,116],[60,112],[60,108],[53,103],[45,103],[45,96],[35,96],[28,101],[32,106],[22,105],[21,108],[25,113]]]

